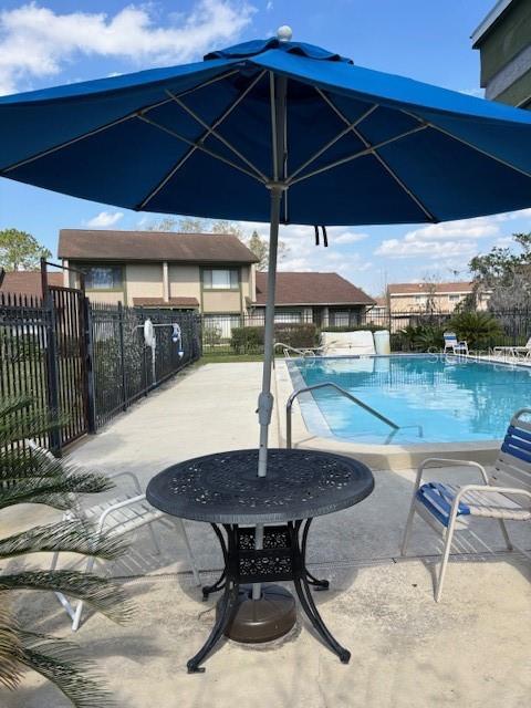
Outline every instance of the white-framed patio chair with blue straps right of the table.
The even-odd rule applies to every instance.
[[[479,471],[482,483],[421,485],[424,470],[429,466],[472,467]],[[507,486],[507,479],[511,486]],[[512,486],[513,482],[517,486]],[[490,478],[482,465],[470,460],[429,458],[420,464],[404,532],[402,555],[406,554],[415,513],[431,529],[441,533],[445,540],[435,589],[436,602],[439,602],[442,593],[454,532],[467,528],[472,517],[496,519],[507,548],[510,551],[517,548],[509,538],[506,521],[531,520],[531,408],[522,408],[513,415]],[[520,548],[517,550],[531,558],[527,551]]]

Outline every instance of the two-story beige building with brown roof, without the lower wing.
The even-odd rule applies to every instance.
[[[254,295],[257,258],[236,236],[62,229],[58,252],[92,302],[240,315]]]

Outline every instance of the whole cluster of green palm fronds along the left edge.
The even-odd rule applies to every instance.
[[[72,494],[105,491],[113,485],[102,475],[73,468],[21,442],[49,431],[31,398],[0,402],[0,510],[20,503],[40,503],[71,510]],[[33,527],[0,540],[0,560],[35,552],[71,552],[114,559],[119,541],[97,535],[93,525],[76,519]],[[11,596],[20,590],[56,591],[87,602],[107,617],[125,620],[131,608],[112,581],[76,571],[27,571],[9,568],[0,575],[0,685],[17,689],[24,668],[54,683],[77,708],[112,706],[112,697],[86,671],[75,647],[62,639],[23,628],[13,614]]]

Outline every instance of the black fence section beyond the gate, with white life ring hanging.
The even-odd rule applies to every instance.
[[[201,354],[196,314],[121,304],[92,304],[90,311],[96,428]],[[154,346],[146,344],[146,321]]]

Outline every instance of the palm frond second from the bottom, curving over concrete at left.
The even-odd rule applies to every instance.
[[[0,591],[42,590],[83,600],[113,622],[126,622],[133,612],[122,587],[106,577],[79,571],[23,571],[0,575]]]

